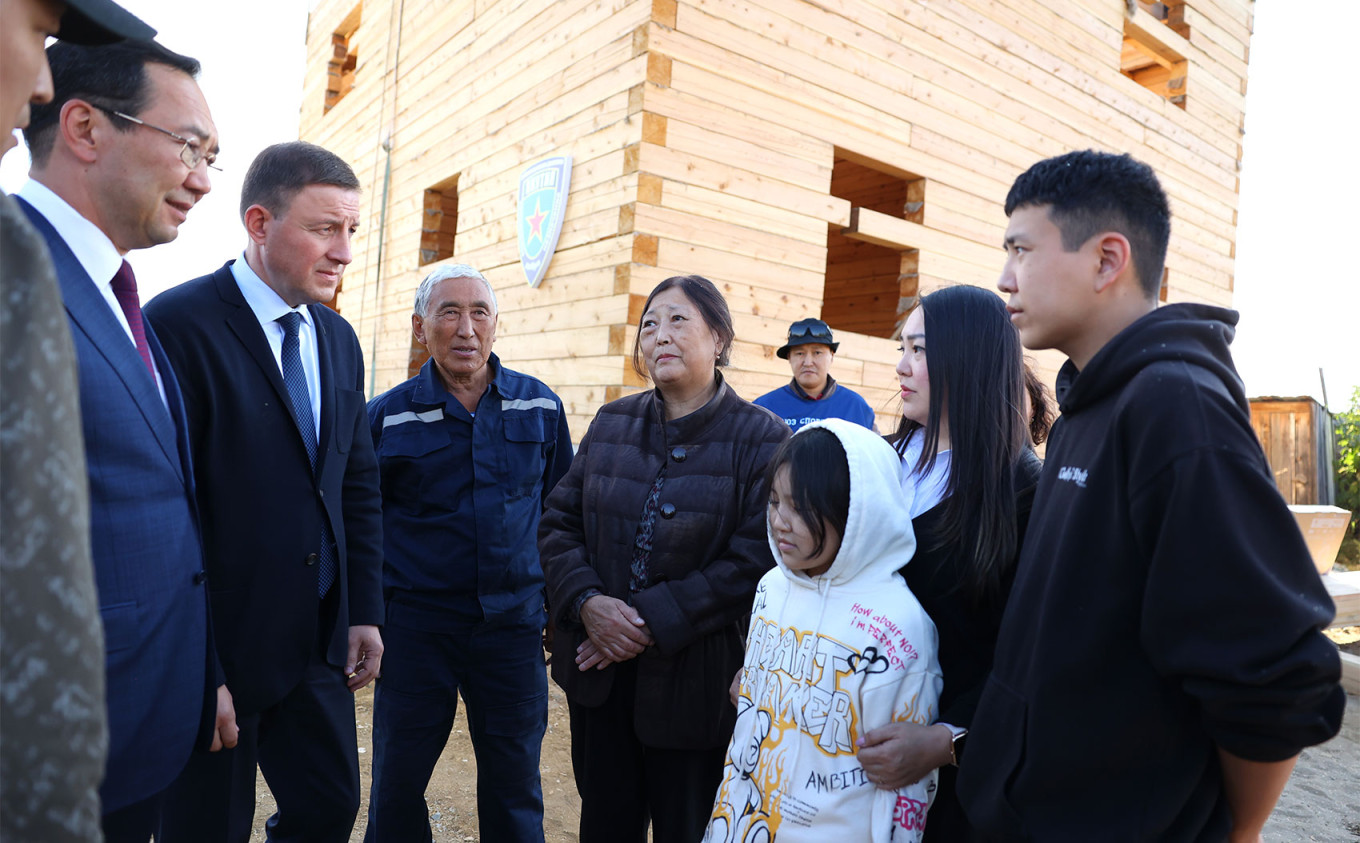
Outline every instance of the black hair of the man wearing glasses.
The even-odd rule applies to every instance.
[[[196,58],[167,50],[155,41],[120,41],[101,46],[57,41],[48,48],[48,64],[52,65],[52,101],[31,106],[29,128],[23,131],[29,155],[39,167],[52,155],[61,107],[72,99],[137,117],[151,105],[148,64],[163,64],[190,79],[199,76]],[[112,118],[110,122],[120,132],[136,128],[126,120]]]

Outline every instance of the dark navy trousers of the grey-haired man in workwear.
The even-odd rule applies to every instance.
[[[373,787],[366,843],[430,840],[424,799],[449,741],[458,695],[477,757],[483,840],[543,843],[539,755],[548,727],[543,616],[509,627],[430,631],[390,605],[373,702]]]

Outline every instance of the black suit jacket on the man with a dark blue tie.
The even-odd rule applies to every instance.
[[[328,661],[344,665],[350,625],[382,623],[382,514],[354,329],[311,306],[321,371],[313,473],[279,364],[230,265],[158,295],[146,314],[184,385],[218,655],[237,712],[253,714],[298,684],[316,646],[322,518],[340,589]]]

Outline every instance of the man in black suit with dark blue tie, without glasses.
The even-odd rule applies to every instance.
[[[271,840],[348,840],[354,691],[382,659],[382,519],[363,355],[335,298],[359,181],[306,143],[269,147],[241,194],[246,249],[147,317],[185,388],[212,623],[241,742],[194,756],[160,840],[250,836],[256,764]]]

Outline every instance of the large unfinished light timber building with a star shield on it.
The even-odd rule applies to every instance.
[[[363,230],[336,307],[371,390],[408,377],[416,284],[491,279],[496,351],[562,396],[574,435],[643,385],[657,281],[732,306],[729,382],[789,368],[826,318],[832,374],[895,423],[894,329],[915,296],[990,287],[1002,200],[1040,158],[1127,151],[1175,215],[1164,300],[1228,305],[1250,0],[320,0],[301,136],[354,163]],[[570,155],[541,286],[520,268],[520,174]],[[1051,382],[1058,360],[1040,356]]]

